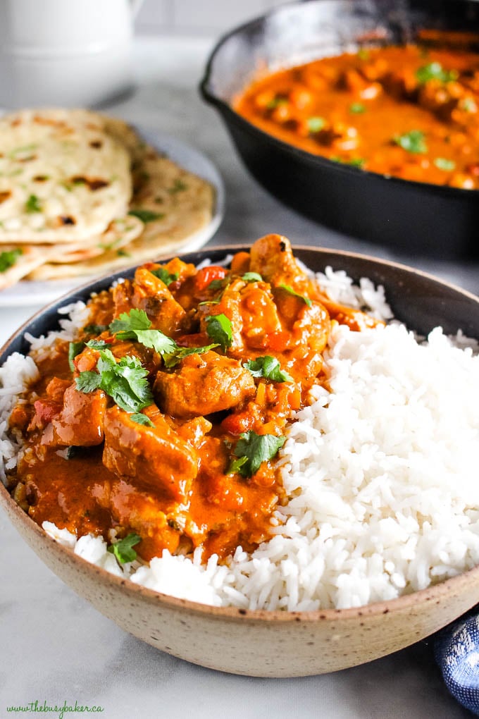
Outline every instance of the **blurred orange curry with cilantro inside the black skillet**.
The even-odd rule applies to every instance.
[[[479,55],[419,45],[322,58],[259,79],[234,109],[363,170],[479,189]]]

